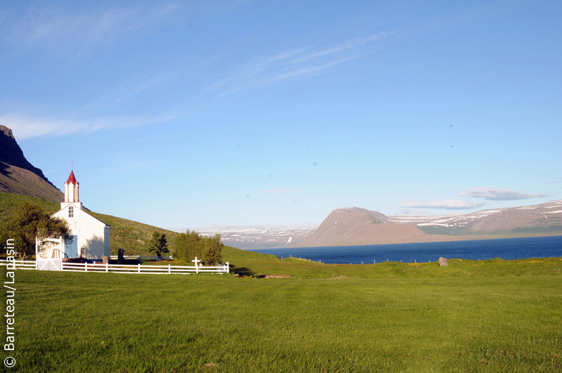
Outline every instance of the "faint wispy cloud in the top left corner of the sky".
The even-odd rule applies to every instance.
[[[57,53],[89,53],[92,48],[124,34],[151,30],[174,16],[181,4],[112,6],[74,11],[60,6],[33,6],[22,15],[9,15],[0,27],[8,44],[46,48]]]

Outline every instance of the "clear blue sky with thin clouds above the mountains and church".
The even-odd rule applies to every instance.
[[[562,198],[559,1],[0,1],[0,124],[163,228]]]

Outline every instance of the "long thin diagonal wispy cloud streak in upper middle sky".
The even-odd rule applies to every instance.
[[[374,43],[395,34],[379,32],[327,46],[301,46],[273,55],[253,58],[235,67],[226,77],[218,79],[207,90],[219,96],[273,82],[310,77],[326,72],[336,65],[355,60],[374,50]]]

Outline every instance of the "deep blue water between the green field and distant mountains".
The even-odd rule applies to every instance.
[[[498,240],[423,242],[418,244],[378,244],[367,246],[292,247],[290,249],[251,250],[280,258],[311,259],[322,263],[370,264],[373,261],[404,263],[447,259],[483,260],[492,258],[525,259],[562,256],[562,236],[523,237]]]

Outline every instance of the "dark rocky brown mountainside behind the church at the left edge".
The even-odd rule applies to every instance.
[[[11,129],[0,126],[0,192],[38,197],[58,204],[64,194],[25,159]]]

